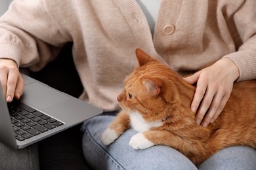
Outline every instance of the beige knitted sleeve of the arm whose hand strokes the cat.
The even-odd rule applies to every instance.
[[[224,57],[232,59],[240,70],[238,81],[256,79],[256,1],[244,1],[226,18],[237,52]]]

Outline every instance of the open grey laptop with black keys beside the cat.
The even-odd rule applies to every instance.
[[[24,93],[18,101],[7,103],[0,90],[0,141],[12,148],[24,148],[102,113],[30,76],[22,77]]]

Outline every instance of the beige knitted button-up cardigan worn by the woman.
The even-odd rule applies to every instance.
[[[0,19],[0,58],[41,69],[66,42],[85,91],[81,99],[116,110],[135,49],[181,75],[228,57],[240,80],[256,78],[256,1],[162,0],[154,38],[135,0],[14,1]],[[67,68],[68,69],[68,68]]]

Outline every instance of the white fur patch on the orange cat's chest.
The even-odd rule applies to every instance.
[[[132,114],[129,114],[129,116],[131,120],[131,126],[133,129],[139,132],[148,131],[151,127],[159,127],[163,124],[161,120],[146,122],[144,118],[142,118],[142,116],[137,112],[133,112]]]

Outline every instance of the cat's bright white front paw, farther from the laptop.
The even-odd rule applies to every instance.
[[[154,146],[154,143],[146,139],[146,137],[144,137],[142,133],[137,133],[136,135],[133,135],[133,137],[131,137],[129,144],[134,149],[144,149]]]

